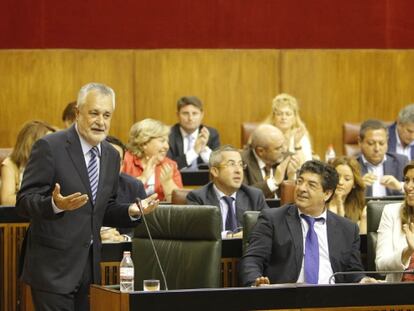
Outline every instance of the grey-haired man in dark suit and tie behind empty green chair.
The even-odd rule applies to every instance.
[[[220,207],[223,219],[222,236],[242,226],[245,211],[268,208],[262,191],[242,184],[243,167],[240,152],[231,146],[222,146],[211,153],[212,182],[187,195],[188,204]]]

